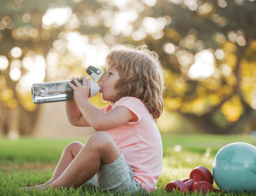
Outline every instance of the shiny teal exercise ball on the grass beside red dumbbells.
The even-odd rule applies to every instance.
[[[214,157],[212,174],[220,189],[256,191],[256,147],[243,142],[224,146]]]

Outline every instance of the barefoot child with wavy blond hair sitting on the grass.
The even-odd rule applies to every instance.
[[[69,122],[92,126],[97,132],[85,144],[68,144],[52,178],[30,188],[74,188],[89,182],[115,193],[156,190],[162,172],[162,142],[156,120],[163,109],[163,69],[146,45],[125,46],[106,57],[107,73],[100,83],[101,98],[111,102],[96,108],[88,101],[90,81],[82,76],[74,100],[66,102]],[[144,190],[143,190],[144,189]]]

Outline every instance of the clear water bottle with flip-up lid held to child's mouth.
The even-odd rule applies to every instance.
[[[104,74],[104,71],[98,67],[89,66],[86,72],[94,80],[90,81],[91,88],[88,97],[90,98],[98,94],[100,87],[97,82]],[[32,101],[34,104],[43,104],[74,100],[74,90],[70,88],[68,81],[75,85],[73,80],[33,84],[31,88]],[[82,85],[83,80],[79,79],[78,81]]]

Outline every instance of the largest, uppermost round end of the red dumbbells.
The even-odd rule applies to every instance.
[[[203,166],[198,166],[190,172],[189,178],[200,177],[201,181],[207,181],[213,184],[212,173]]]

